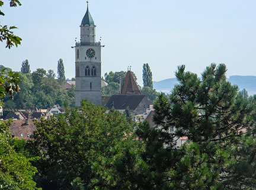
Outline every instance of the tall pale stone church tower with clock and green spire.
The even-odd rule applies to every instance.
[[[96,42],[94,21],[87,12],[81,22],[80,42],[75,44],[75,105],[87,99],[101,105],[101,43]]]

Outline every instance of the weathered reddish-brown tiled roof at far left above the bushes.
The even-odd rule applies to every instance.
[[[18,139],[29,139],[30,136],[36,131],[36,126],[33,120],[14,120],[12,121],[9,130],[12,137],[17,137]]]

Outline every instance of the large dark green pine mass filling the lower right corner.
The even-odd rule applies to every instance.
[[[225,72],[212,64],[199,78],[178,67],[172,94],[155,101],[158,128],[139,124],[140,146],[104,170],[105,189],[255,189],[256,96],[239,94]]]

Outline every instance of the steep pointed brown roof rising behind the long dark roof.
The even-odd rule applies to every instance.
[[[130,70],[127,71],[126,76],[124,78],[124,83],[121,86],[121,94],[141,94],[140,89],[137,86],[135,78],[132,75]]]

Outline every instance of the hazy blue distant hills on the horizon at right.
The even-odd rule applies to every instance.
[[[256,76],[238,76],[233,75],[228,78],[232,85],[238,85],[239,89],[246,89],[249,95],[256,94]],[[177,82],[176,78],[165,79],[158,82],[153,82],[156,91],[170,93]]]

